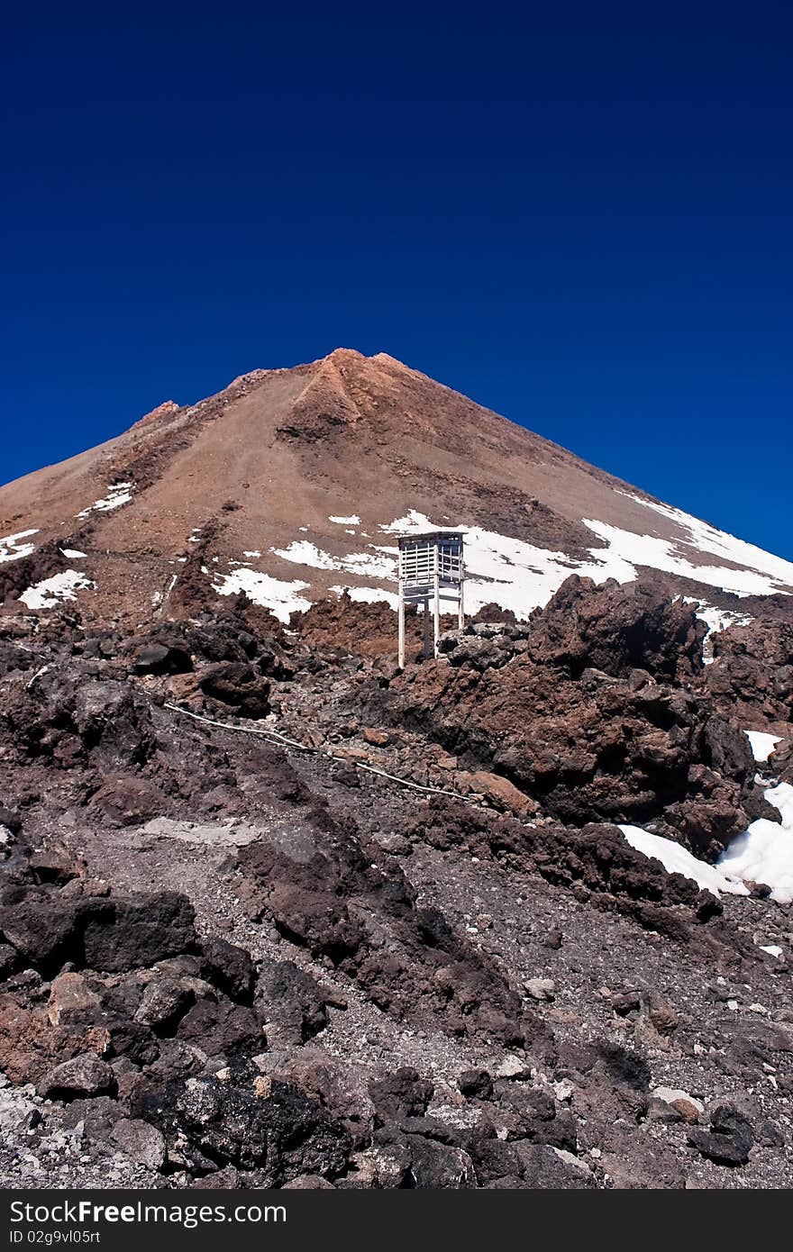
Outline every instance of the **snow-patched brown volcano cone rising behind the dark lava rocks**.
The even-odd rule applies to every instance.
[[[386,353],[257,369],[0,488],[0,596],[169,613],[189,583],[283,621],[350,590],[393,602],[395,536],[459,527],[467,603],[525,618],[571,573],[639,575],[712,626],[784,615],[793,565],[714,530]]]

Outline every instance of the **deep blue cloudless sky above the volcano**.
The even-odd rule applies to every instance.
[[[23,9],[0,482],[345,346],[793,558],[789,5]]]

